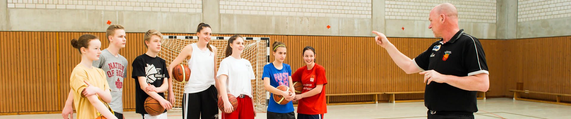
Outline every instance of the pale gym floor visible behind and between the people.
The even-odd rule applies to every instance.
[[[488,98],[478,100],[476,118],[571,118],[571,106],[540,102],[516,101],[511,98]],[[327,106],[324,118],[427,118],[424,102],[403,102],[362,105]],[[140,114],[125,112],[125,118],[138,119]],[[61,114],[29,114],[0,116],[0,118],[51,119],[62,118]],[[182,118],[181,112],[169,112],[168,118]],[[258,113],[256,119],[265,119],[266,113]]]

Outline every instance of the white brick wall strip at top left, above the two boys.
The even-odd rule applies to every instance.
[[[202,0],[8,0],[8,8],[202,13]]]

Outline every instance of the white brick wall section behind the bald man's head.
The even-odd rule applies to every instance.
[[[428,20],[430,10],[444,2],[456,6],[461,22],[496,23],[496,0],[387,0],[385,19]]]

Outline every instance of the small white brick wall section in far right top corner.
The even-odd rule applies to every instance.
[[[517,0],[517,22],[571,17],[569,0]]]

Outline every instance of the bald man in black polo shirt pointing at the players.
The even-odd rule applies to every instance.
[[[458,11],[451,3],[434,7],[429,16],[436,38],[416,58],[408,58],[383,33],[375,37],[391,58],[407,74],[424,75],[427,84],[424,105],[428,118],[474,118],[477,91],[489,88],[488,65],[480,41],[458,27]]]

